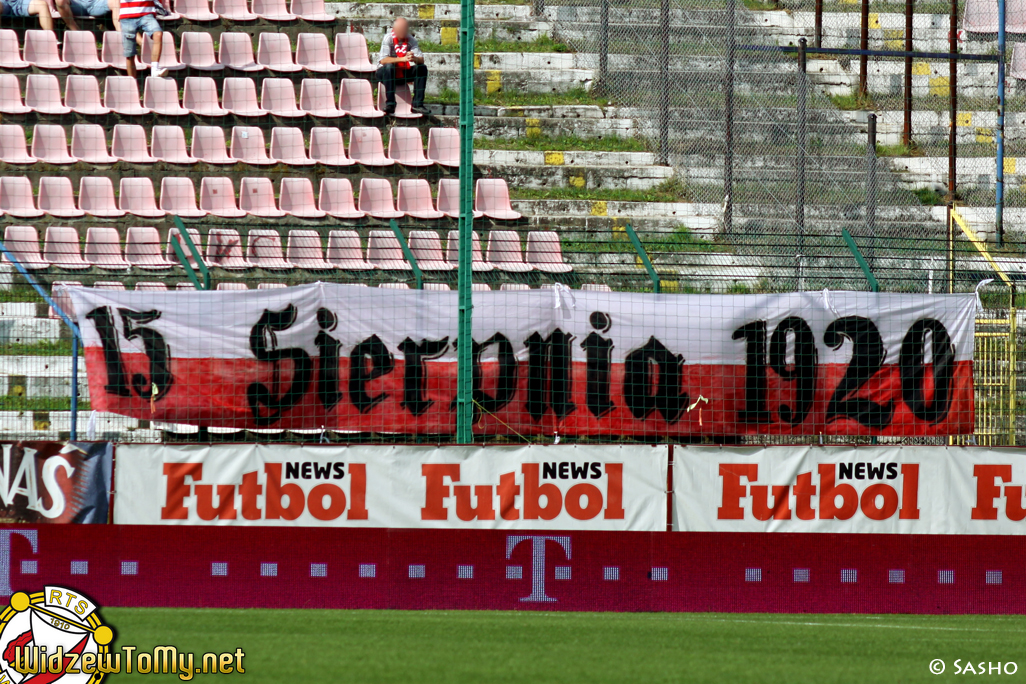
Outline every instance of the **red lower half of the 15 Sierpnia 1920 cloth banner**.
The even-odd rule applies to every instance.
[[[390,371],[367,380],[356,388],[354,394],[350,383],[350,361],[340,361],[338,392],[339,399],[331,407],[325,406],[318,388],[319,372],[315,368],[311,381],[302,399],[292,407],[281,412],[279,417],[269,417],[258,421],[253,417],[249,402],[253,389],[264,386],[266,392],[260,396],[272,401],[286,395],[292,384],[291,361],[279,363],[262,362],[252,359],[172,359],[170,362],[173,383],[160,399],[152,400],[148,394],[150,360],[143,354],[123,353],[126,381],[123,392],[131,396],[109,393],[104,353],[98,347],[87,347],[85,358],[89,377],[89,395],[92,407],[98,410],[121,413],[137,418],[180,423],[188,425],[226,428],[280,428],[284,430],[329,430],[355,432],[391,432],[402,434],[449,434],[456,429],[456,413],[452,402],[456,398],[455,363],[432,362],[424,364],[426,379],[420,393],[412,397],[404,395],[405,364],[395,360]],[[314,361],[315,366],[317,361]],[[653,364],[653,368],[655,364]],[[487,397],[500,394],[498,388],[498,362],[481,364],[481,391]],[[781,379],[774,372],[766,372],[764,407],[768,411],[766,423],[744,423],[739,412],[749,408],[746,395],[746,367],[726,364],[684,365],[680,373],[680,385],[686,393],[686,400],[675,400],[682,408],[699,397],[707,402],[698,403],[689,412],[681,410],[670,419],[661,412],[665,402],[653,401],[656,405],[642,417],[628,407],[625,396],[625,367],[614,364],[609,372],[609,396],[613,408],[601,415],[594,415],[589,408],[601,403],[600,395],[589,396],[588,369],[585,363],[575,362],[570,373],[571,390],[569,400],[574,410],[559,418],[552,409],[553,395],[549,381],[541,389],[536,388],[535,399],[541,402],[544,413],[538,419],[528,411],[531,397],[528,387],[529,368],[525,361],[517,365],[516,391],[512,399],[491,412],[482,411],[475,423],[478,434],[552,434],[564,435],[879,435],[879,436],[932,436],[955,435],[973,432],[974,393],[973,363],[960,361],[954,364],[950,383],[950,405],[940,419],[932,421],[917,417],[903,399],[901,371],[897,364],[884,365],[868,380],[852,386],[858,387],[846,399],[869,399],[881,405],[877,413],[885,415],[885,420],[873,421],[866,417],[873,413],[865,406],[858,407],[849,401],[839,415],[830,417],[827,411],[834,399],[838,384],[849,372],[844,364],[820,364],[817,366],[816,392],[807,415],[798,425],[790,425],[781,418],[781,407],[795,407],[795,383]],[[933,371],[926,366],[922,380],[922,398],[932,401],[934,394]],[[546,372],[548,376],[549,373]],[[647,395],[658,395],[658,371],[649,374],[650,387]],[[127,378],[132,378],[128,381]],[[136,381],[137,380],[137,381]],[[408,383],[408,380],[407,380]],[[129,389],[134,386],[134,389]],[[143,388],[142,390],[137,388]],[[336,388],[331,388],[334,390]],[[354,398],[363,396],[373,402],[364,406],[361,412],[354,405]],[[415,415],[408,400],[429,401],[423,412]],[[845,397],[837,398],[839,400]],[[487,403],[482,401],[487,408]],[[671,402],[671,404],[674,402]],[[843,403],[843,402],[841,402]],[[893,406],[889,412],[885,407]],[[871,408],[871,407],[870,407]],[[666,409],[663,409],[666,410]],[[266,407],[262,415],[269,415]],[[639,408],[635,411],[640,412]],[[600,411],[599,411],[600,412]],[[787,413],[787,411],[783,411]],[[862,416],[863,421],[857,419]],[[865,423],[865,424],[864,424]]]

